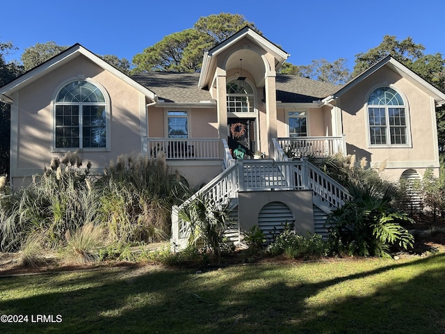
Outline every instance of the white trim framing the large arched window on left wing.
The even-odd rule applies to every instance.
[[[67,86],[67,84],[70,84],[72,81],[88,81],[90,84],[96,86],[99,88],[99,90],[102,92],[102,94],[105,97],[105,103],[102,104],[105,106],[105,129],[106,129],[106,145],[104,148],[56,148],[56,98],[58,96],[58,93],[60,90]],[[79,152],[110,152],[111,151],[111,99],[108,95],[108,91],[99,84],[96,81],[92,81],[90,79],[84,78],[82,75],[79,75],[77,77],[71,77],[70,79],[67,79],[63,81],[59,86],[57,86],[56,90],[54,90],[53,96],[51,97],[51,119],[52,119],[52,132],[51,132],[51,152],[68,152],[70,150],[78,150]],[[58,105],[61,105],[63,103],[57,103]],[[69,105],[69,104],[67,104]],[[101,105],[101,104],[88,104],[84,103],[81,105]],[[82,120],[79,115],[79,144],[82,142],[82,136],[81,136],[81,125]]]

